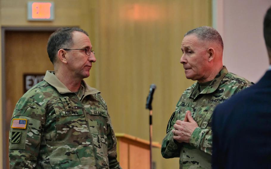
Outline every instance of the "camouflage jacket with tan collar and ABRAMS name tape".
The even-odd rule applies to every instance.
[[[116,137],[100,92],[83,80],[78,95],[52,72],[24,94],[10,128],[10,168],[120,168]]]

